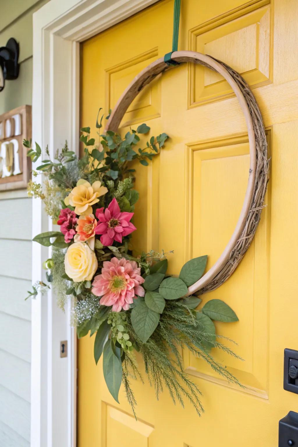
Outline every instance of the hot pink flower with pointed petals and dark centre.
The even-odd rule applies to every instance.
[[[134,213],[120,212],[118,202],[113,198],[107,208],[98,208],[95,211],[98,219],[96,234],[101,234],[102,245],[112,245],[114,240],[122,242],[122,237],[136,230],[130,222]]]

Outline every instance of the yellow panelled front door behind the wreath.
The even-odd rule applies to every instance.
[[[98,108],[113,109],[134,76],[170,51],[172,15],[173,0],[163,0],[82,44],[81,124],[92,126],[94,136]],[[205,413],[198,417],[188,403],[174,406],[166,391],[156,401],[146,380],[132,380],[136,422],[124,391],[118,405],[105,386],[94,336],[84,337],[79,447],[275,447],[279,419],[298,411],[298,396],[283,390],[283,350],[298,349],[297,18],[297,0],[181,2],[179,49],[212,55],[243,75],[260,105],[272,157],[267,206],[252,245],[231,278],[202,297],[224,300],[239,317],[216,326],[238,342],[245,361],[214,355],[246,388],[185,352]],[[235,95],[217,73],[184,64],[144,89],[120,131],[142,122],[151,135],[166,132],[170,139],[148,168],[138,166],[134,250],[174,250],[172,274],[204,254],[208,268],[233,232],[247,186],[247,129]],[[145,377],[140,358],[139,367]]]

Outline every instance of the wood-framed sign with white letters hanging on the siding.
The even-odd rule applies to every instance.
[[[31,138],[31,105],[0,115],[0,191],[27,187],[31,160],[24,138]]]

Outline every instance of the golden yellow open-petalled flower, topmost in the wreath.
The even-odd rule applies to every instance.
[[[99,201],[98,197],[107,192],[107,188],[101,186],[99,180],[90,185],[87,180],[80,178],[75,188],[64,199],[64,203],[75,207],[75,213],[79,216],[92,214],[92,205]]]

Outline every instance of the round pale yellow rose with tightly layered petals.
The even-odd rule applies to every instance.
[[[65,273],[75,283],[91,281],[97,270],[97,257],[85,242],[71,244],[66,252]]]

